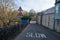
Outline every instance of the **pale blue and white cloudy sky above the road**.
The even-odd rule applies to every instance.
[[[15,0],[15,4],[17,9],[21,6],[26,11],[34,9],[40,12],[55,6],[55,0]]]

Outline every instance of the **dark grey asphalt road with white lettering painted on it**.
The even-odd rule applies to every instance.
[[[60,40],[60,35],[35,24],[29,24],[14,40]]]

